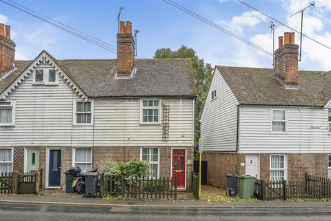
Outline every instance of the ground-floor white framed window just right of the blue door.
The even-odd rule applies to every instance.
[[[92,169],[92,148],[73,148],[72,166],[79,166],[81,172]]]

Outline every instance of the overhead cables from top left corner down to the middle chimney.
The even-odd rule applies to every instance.
[[[22,12],[25,12],[25,13],[27,13],[28,15],[31,15],[32,17],[35,17],[35,18],[37,18],[37,19],[40,19],[41,21],[44,21],[44,22],[46,22],[46,23],[49,23],[50,25],[52,25],[52,26],[54,26],[54,27],[57,27],[57,28],[60,28],[61,30],[64,30],[64,31],[66,31],[66,32],[68,32],[68,33],[70,33],[70,34],[72,34],[72,35],[75,35],[76,37],[79,37],[79,38],[81,38],[81,39],[83,39],[83,40],[85,40],[85,41],[88,41],[88,42],[90,42],[91,44],[94,44],[94,45],[96,45],[96,46],[99,46],[100,48],[103,48],[103,49],[105,49],[105,50],[108,50],[108,51],[110,51],[110,52],[112,52],[112,53],[114,53],[114,54],[117,54],[117,52],[116,52],[116,50],[114,49],[114,46],[112,46],[112,45],[110,45],[110,44],[107,44],[106,42],[106,44],[104,44],[104,43],[102,43],[102,41],[101,40],[99,40],[99,39],[97,39],[97,38],[94,38],[94,37],[91,37],[91,36],[89,36],[89,35],[86,35],[86,34],[83,34],[83,32],[80,32],[79,30],[76,30],[76,29],[74,29],[74,28],[71,28],[70,26],[66,26],[66,25],[64,25],[64,24],[62,24],[62,23],[59,23],[58,21],[55,21],[55,20],[53,20],[53,19],[49,19],[48,17],[46,17],[47,19],[45,19],[45,18],[43,18],[43,17],[45,17],[45,16],[43,16],[43,15],[41,15],[40,13],[38,13],[38,12],[34,12],[33,10],[30,10],[30,9],[28,9],[28,8],[26,8],[26,7],[24,7],[24,6],[21,6],[21,8],[19,8],[19,4],[18,3],[15,3],[15,4],[17,4],[17,6],[14,6],[12,3],[14,3],[14,1],[10,1],[10,0],[8,0],[8,1],[10,1],[10,2],[12,2],[12,3],[8,3],[8,2],[6,2],[6,1],[3,1],[3,0],[0,0],[1,2],[3,2],[3,3],[6,3],[8,6],[11,6],[11,7],[13,7],[13,8],[16,8],[17,10],[20,10],[20,11],[22,11]],[[28,9],[28,10],[30,10],[30,12],[28,11],[28,10],[25,10],[25,9],[23,9],[23,8],[26,8],[26,9]],[[38,15],[35,15],[35,14],[38,14]],[[41,16],[43,16],[43,17],[41,17],[41,16],[39,16],[39,15],[41,15]],[[49,21],[50,20],[50,21]],[[65,27],[67,27],[67,28],[64,28],[63,26],[65,26]],[[71,30],[70,30],[70,29]],[[76,32],[75,32],[76,31]],[[80,32],[81,34],[79,34],[78,32]],[[94,39],[96,39],[96,40],[94,40]],[[109,45],[109,46],[108,46]],[[111,47],[113,47],[113,48],[111,48]]]

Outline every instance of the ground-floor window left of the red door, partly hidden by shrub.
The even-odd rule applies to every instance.
[[[159,177],[160,153],[157,147],[143,147],[140,149],[140,160],[150,162],[152,177]]]

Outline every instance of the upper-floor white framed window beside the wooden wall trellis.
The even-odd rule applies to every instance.
[[[141,124],[160,124],[160,100],[141,99]]]

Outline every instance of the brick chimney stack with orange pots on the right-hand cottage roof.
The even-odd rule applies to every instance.
[[[294,44],[294,32],[285,32],[279,37],[279,48],[274,52],[275,73],[286,86],[298,86],[298,49]]]

